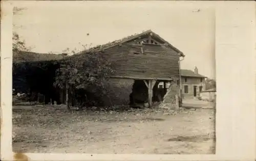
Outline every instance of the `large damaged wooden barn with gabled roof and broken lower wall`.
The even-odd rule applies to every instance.
[[[180,89],[179,60],[184,55],[151,30],[87,52],[94,51],[103,52],[115,71],[107,85],[108,92],[102,97],[106,106],[147,104],[152,107],[153,102],[163,101],[170,89],[166,84],[178,85]],[[159,87],[159,83],[164,86]]]

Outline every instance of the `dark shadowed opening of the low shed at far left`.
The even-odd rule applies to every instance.
[[[53,87],[57,61],[13,63],[13,88],[16,92],[41,93],[58,101],[58,89]]]

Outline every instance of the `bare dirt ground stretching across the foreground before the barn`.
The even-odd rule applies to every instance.
[[[213,109],[13,110],[14,152],[214,154]]]

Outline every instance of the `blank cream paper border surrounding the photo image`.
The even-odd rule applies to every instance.
[[[47,1],[20,2],[44,3]],[[107,2],[104,1],[104,3]],[[17,160],[14,157],[15,153],[12,152],[11,108],[11,37],[14,3],[15,1],[1,1],[1,160]],[[56,1],[55,3],[77,2]],[[146,1],[140,3],[146,3]],[[19,155],[24,157],[22,160],[26,160],[26,156],[29,160],[254,160],[256,158],[256,66],[254,65],[256,64],[256,3],[254,1],[168,1],[168,3],[177,6],[194,5],[197,8],[203,6],[215,8],[216,11],[216,154],[24,153]]]

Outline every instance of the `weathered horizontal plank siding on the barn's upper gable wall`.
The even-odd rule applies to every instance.
[[[143,53],[141,52],[141,47]],[[139,52],[140,54],[135,54]],[[179,55],[169,47],[160,45],[137,45],[124,43],[106,49],[117,77],[148,79],[179,78]]]

